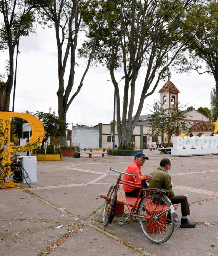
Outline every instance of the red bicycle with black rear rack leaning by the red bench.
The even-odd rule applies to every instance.
[[[169,191],[166,189],[150,189],[146,182],[152,180],[153,177],[151,175],[139,176],[142,180],[140,184],[121,179],[122,174],[133,176],[135,179],[135,174],[131,175],[111,168],[108,170],[120,174],[117,183],[110,187],[106,196],[103,210],[103,225],[106,226],[112,222],[117,198],[119,198],[119,203],[121,201],[122,204],[126,205],[129,211],[125,221],[119,222],[119,225],[124,225],[129,217],[132,220],[138,219],[141,230],[151,242],[158,244],[166,242],[171,237],[174,231],[174,226],[180,224],[174,206],[167,197]],[[133,188],[140,188],[140,193],[144,190],[145,195],[142,198],[139,196],[137,198],[128,197],[120,188],[120,184],[128,184]],[[128,204],[129,199],[135,200],[132,209],[130,209]],[[175,206],[175,208],[177,207]]]

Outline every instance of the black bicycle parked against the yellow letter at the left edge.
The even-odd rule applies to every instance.
[[[17,159],[16,161],[14,161],[11,164],[3,166],[2,162],[1,162],[3,160],[3,157],[0,158],[0,167],[1,167],[1,169],[0,169],[0,188],[4,185],[5,182],[10,182],[12,179],[15,179],[15,172],[17,170],[20,170],[20,177],[18,177],[18,178],[21,179],[23,177],[24,180],[26,181],[26,183],[28,184],[28,186],[32,187],[32,182],[29,178],[29,175],[26,172],[26,170],[23,168],[22,163],[20,161],[22,159],[23,159],[23,157],[20,159]],[[5,167],[8,167],[8,166],[11,166],[11,175],[10,176],[6,175],[5,169],[4,169]],[[18,179],[15,179],[15,180],[18,181]]]

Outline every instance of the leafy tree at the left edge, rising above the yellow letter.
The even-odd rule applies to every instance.
[[[11,89],[14,78],[14,49],[21,36],[29,36],[35,32],[36,13],[35,8],[46,6],[50,0],[1,0],[0,14],[3,22],[0,24],[0,50],[9,50],[9,67],[7,81],[0,84],[0,95],[6,88],[5,101],[2,105],[0,97],[0,109],[8,109]]]

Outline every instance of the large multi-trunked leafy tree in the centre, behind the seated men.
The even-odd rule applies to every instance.
[[[110,2],[105,25],[96,41],[93,59],[106,65],[115,87],[120,147],[129,146],[145,99],[154,93],[160,80],[170,76],[171,64],[183,57],[185,43],[194,37],[196,28],[190,33],[187,27],[190,17],[198,12],[199,3],[200,1],[191,0]],[[96,31],[95,24],[102,20],[95,11],[90,16],[92,18],[86,33],[87,40],[79,50],[80,57],[87,58]],[[144,85],[132,120],[135,83],[142,67],[146,69]],[[117,69],[122,70],[125,75],[122,116],[120,90],[115,74]]]

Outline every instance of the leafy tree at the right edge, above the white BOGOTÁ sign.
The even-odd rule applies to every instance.
[[[196,30],[195,37],[187,41],[189,58],[183,58],[178,72],[196,70],[199,74],[208,73],[215,79],[216,109],[218,113],[218,2],[206,1],[200,12],[190,19],[189,28]],[[204,62],[206,70],[201,71]]]

